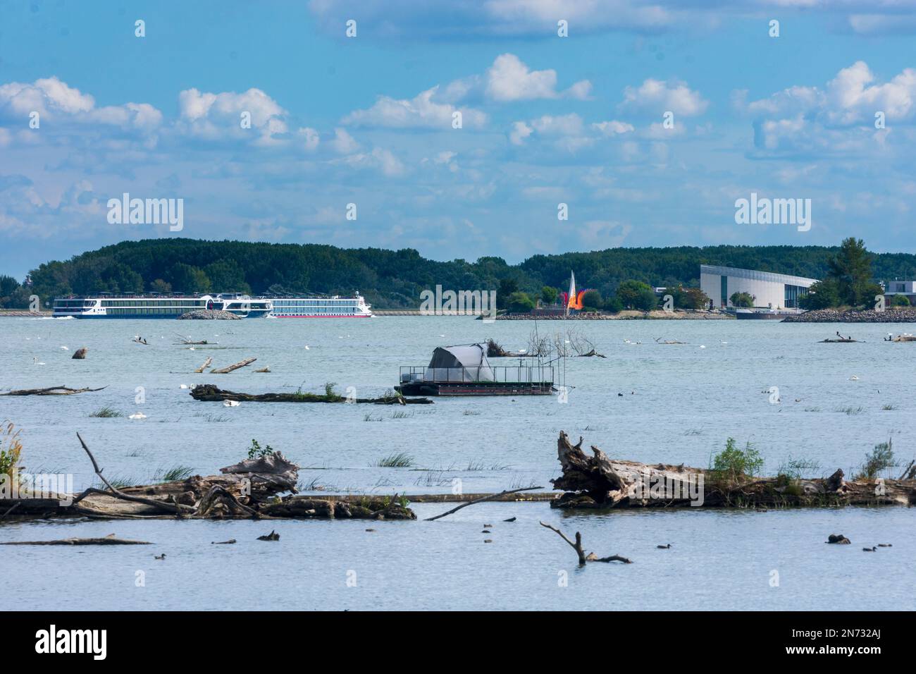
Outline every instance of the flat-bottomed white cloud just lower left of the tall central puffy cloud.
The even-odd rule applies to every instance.
[[[485,124],[486,116],[478,110],[433,101],[438,90],[439,87],[434,86],[410,100],[379,96],[376,105],[366,110],[356,110],[345,116],[342,122],[355,127],[451,130],[453,113],[461,110],[463,127],[482,127]]]

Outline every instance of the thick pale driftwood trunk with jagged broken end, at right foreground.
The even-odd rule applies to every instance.
[[[827,478],[787,476],[725,478],[714,470],[609,459],[598,447],[592,456],[561,431],[557,458],[562,475],[551,480],[564,493],[555,508],[634,508],[676,506],[789,507],[916,505],[916,480],[846,481],[842,470]],[[702,495],[702,498],[697,498]]]

